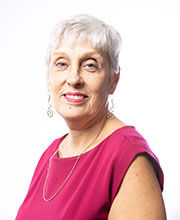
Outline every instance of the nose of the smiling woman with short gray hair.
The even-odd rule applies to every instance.
[[[74,88],[81,88],[83,86],[83,79],[81,78],[78,69],[73,68],[69,72],[66,83]]]

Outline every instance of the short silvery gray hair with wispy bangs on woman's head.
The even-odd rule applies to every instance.
[[[112,26],[87,14],[72,16],[54,27],[46,57],[48,69],[53,49],[58,48],[62,38],[69,32],[72,41],[87,40],[93,48],[107,55],[112,76],[119,71],[120,34]]]

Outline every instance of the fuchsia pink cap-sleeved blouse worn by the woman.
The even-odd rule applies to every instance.
[[[66,136],[66,135],[65,135]],[[155,166],[161,190],[163,173],[158,159],[133,126],[124,126],[84,153],[61,191],[51,201],[43,200],[49,159],[65,137],[56,139],[43,153],[16,220],[107,220],[112,202],[134,158],[146,153]],[[52,158],[46,198],[59,189],[77,156]]]

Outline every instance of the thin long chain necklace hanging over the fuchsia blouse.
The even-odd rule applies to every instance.
[[[77,157],[77,159],[76,159],[76,162],[74,163],[73,168],[71,169],[70,173],[68,174],[68,176],[66,177],[66,179],[64,180],[64,182],[62,183],[62,185],[59,187],[59,189],[54,193],[53,196],[51,196],[49,199],[47,199],[46,196],[45,196],[45,191],[46,191],[46,185],[47,185],[47,181],[48,181],[48,177],[49,177],[49,172],[50,172],[50,167],[51,167],[51,160],[52,160],[52,158],[54,157],[54,155],[58,152],[59,148],[58,148],[58,149],[54,152],[54,154],[50,157],[50,159],[49,159],[49,166],[48,166],[48,169],[47,169],[47,176],[46,176],[46,180],[45,180],[44,188],[43,188],[43,199],[44,199],[44,201],[46,201],[46,202],[51,201],[51,200],[59,193],[59,191],[63,188],[63,186],[66,184],[66,182],[67,182],[68,179],[70,178],[71,174],[73,173],[73,171],[74,171],[74,169],[75,169],[75,167],[76,167],[76,165],[77,165],[77,163],[78,163],[78,161],[79,161],[81,155],[82,155],[82,154],[89,148],[89,146],[90,146],[92,143],[94,143],[94,142],[97,140],[97,138],[99,137],[101,131],[102,131],[103,128],[104,128],[105,122],[106,122],[106,120],[104,121],[103,126],[102,126],[102,128],[99,130],[99,132],[97,133],[96,137],[95,137],[95,138],[84,148],[84,150],[78,155],[78,157]]]

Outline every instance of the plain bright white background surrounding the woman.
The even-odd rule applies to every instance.
[[[178,2],[178,1],[177,1]],[[180,219],[180,6],[168,0],[0,1],[0,219],[14,219],[35,166],[67,132],[46,115],[44,57],[52,27],[89,13],[121,33],[116,115],[134,125],[165,174],[168,219]]]

